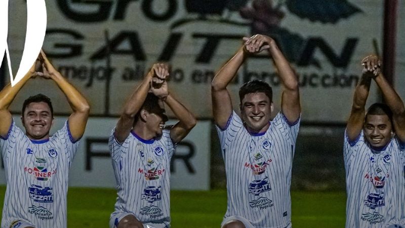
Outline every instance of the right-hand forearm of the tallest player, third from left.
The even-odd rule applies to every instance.
[[[278,70],[282,84],[287,90],[298,91],[298,79],[286,57],[278,49],[274,40],[271,40],[269,54]]]

